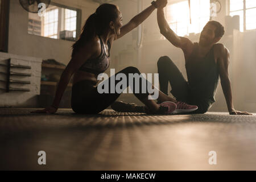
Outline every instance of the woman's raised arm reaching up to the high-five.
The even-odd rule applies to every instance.
[[[155,2],[155,6],[157,8],[164,7],[166,5],[167,5],[167,0],[157,0]],[[141,13],[137,14],[136,16],[134,16],[130,20],[129,23],[127,23],[124,26],[122,26],[122,28],[120,30],[120,35],[118,35],[115,38],[115,40],[121,38],[123,35],[127,34],[131,30],[133,30],[134,28],[138,27],[139,24],[144,22],[144,20],[146,20],[148,18],[148,16],[151,15],[151,13],[156,9],[155,6],[151,5],[151,6],[147,7],[147,9],[143,10]]]

